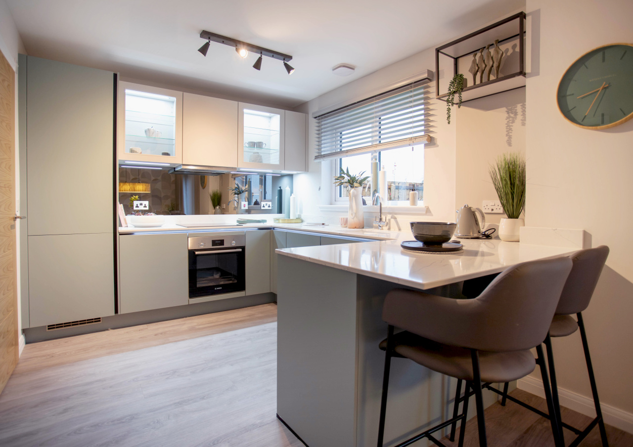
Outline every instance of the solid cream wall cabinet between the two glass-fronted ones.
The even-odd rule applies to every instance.
[[[185,93],[182,163],[237,168],[237,102]]]

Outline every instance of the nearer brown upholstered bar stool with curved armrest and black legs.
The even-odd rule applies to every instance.
[[[548,333],[571,268],[572,261],[567,257],[523,262],[499,274],[479,297],[472,300],[437,297],[404,289],[389,291],[382,310],[382,319],[389,327],[387,339],[380,343],[386,352],[378,446],[383,446],[391,357],[406,357],[429,369],[467,381],[466,399],[470,395],[469,388],[475,395],[480,447],[486,446],[482,380],[516,380],[527,376],[538,363],[548,408],[554,415],[551,418],[552,432],[556,446],[560,446],[560,429],[553,411],[541,342]],[[394,326],[404,331],[394,334]],[[539,354],[537,360],[530,353],[530,348],[534,347]],[[422,438],[441,445],[432,433],[457,420],[461,420],[462,426],[461,445],[467,401],[464,404],[461,415],[396,447]]]

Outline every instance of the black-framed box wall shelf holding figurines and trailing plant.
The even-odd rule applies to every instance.
[[[494,45],[495,40],[499,40],[499,45],[506,44],[506,46],[516,42],[518,50],[515,52],[518,53],[518,57],[513,56],[515,52],[510,53],[510,49],[507,49],[507,51],[514,59],[518,60],[510,60],[508,54],[505,53],[505,65],[502,66],[502,71],[499,72],[498,78],[471,85],[472,75],[468,73],[468,67],[472,60],[472,54],[479,52],[482,48],[486,48],[487,45]],[[441,63],[443,64],[441,65]],[[506,68],[506,70],[503,70],[503,68]],[[444,82],[440,85],[439,75],[436,82],[436,98],[442,101],[446,101],[448,83],[451,82],[456,73],[463,73],[464,78],[468,80],[468,87],[462,93],[462,102],[525,87],[525,13],[517,13],[465,35],[460,39],[453,40],[453,42],[437,47],[436,75],[442,69],[447,73],[444,76]],[[441,91],[442,93],[440,93]]]

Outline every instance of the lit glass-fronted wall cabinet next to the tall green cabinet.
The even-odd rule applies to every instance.
[[[182,163],[182,92],[120,82],[120,160]]]

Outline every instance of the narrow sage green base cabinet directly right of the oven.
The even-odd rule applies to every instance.
[[[270,230],[246,231],[246,295],[270,292]]]

